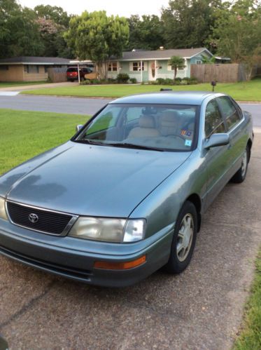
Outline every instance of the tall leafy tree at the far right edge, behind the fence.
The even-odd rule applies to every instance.
[[[253,67],[261,62],[261,6],[255,0],[239,0],[226,6],[226,11],[220,11],[209,41],[218,54],[243,63],[246,78],[250,79]]]

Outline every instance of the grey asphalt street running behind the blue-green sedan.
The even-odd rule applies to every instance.
[[[69,114],[92,115],[104,107],[110,99],[79,98],[79,97],[53,97],[16,95],[1,96],[0,107],[22,109],[27,111],[57,112]],[[261,127],[261,104],[240,104],[241,107],[251,112],[254,126]]]

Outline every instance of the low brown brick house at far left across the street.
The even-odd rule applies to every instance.
[[[48,79],[48,68],[66,68],[70,60],[53,57],[15,57],[0,60],[0,81],[43,81]]]

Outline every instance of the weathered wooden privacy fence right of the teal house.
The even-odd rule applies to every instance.
[[[211,83],[213,80],[219,83],[235,83],[245,80],[244,74],[241,74],[241,68],[237,63],[191,65],[190,76],[197,78],[199,83]]]

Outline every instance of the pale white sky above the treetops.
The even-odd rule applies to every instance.
[[[80,15],[83,11],[105,10],[108,15],[160,15],[162,6],[169,0],[17,0],[22,6],[34,8],[37,5],[59,6],[67,13]]]

